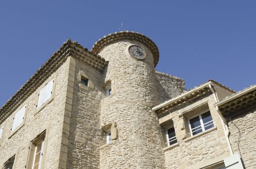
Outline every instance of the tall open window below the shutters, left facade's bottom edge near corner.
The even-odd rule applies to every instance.
[[[32,141],[32,145],[30,148],[30,155],[29,155],[29,163],[28,163],[28,166],[30,169],[42,168],[45,136],[46,136],[46,132],[43,132],[43,134],[40,134],[34,141]]]

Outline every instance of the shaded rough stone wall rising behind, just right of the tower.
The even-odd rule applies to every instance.
[[[183,79],[156,71],[159,103],[173,99],[186,91]]]

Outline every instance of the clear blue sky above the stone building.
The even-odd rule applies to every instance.
[[[0,106],[67,38],[91,49],[122,22],[157,44],[156,69],[187,89],[256,84],[256,0],[1,0]]]

